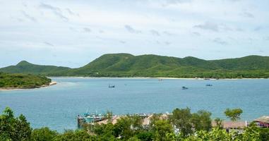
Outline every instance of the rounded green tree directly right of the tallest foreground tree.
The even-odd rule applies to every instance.
[[[200,110],[197,113],[192,114],[191,122],[194,125],[196,131],[198,130],[210,130],[211,124],[211,113],[209,111]]]

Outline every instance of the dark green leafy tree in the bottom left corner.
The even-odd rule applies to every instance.
[[[0,115],[1,140],[30,140],[31,130],[25,116],[15,118],[13,111],[8,107]]]

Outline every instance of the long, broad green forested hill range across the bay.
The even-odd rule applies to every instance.
[[[13,67],[16,68],[16,73],[25,73],[17,69],[20,68],[18,65]],[[6,68],[0,68],[0,71],[13,73],[13,69]],[[25,66],[27,73],[37,73],[27,68]],[[191,56],[181,59],[157,55],[104,54],[80,68],[48,70],[40,73],[95,77],[269,78],[269,57],[246,56],[206,61]]]

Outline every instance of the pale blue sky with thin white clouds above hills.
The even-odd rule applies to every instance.
[[[269,55],[268,0],[0,0],[0,67],[102,54]]]

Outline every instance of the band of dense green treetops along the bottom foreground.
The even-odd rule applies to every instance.
[[[230,111],[230,110],[229,110]],[[227,111],[226,111],[227,112]],[[80,130],[66,130],[58,133],[49,128],[30,128],[25,116],[15,117],[10,108],[0,115],[0,140],[23,141],[252,141],[269,140],[269,128],[258,128],[254,123],[242,131],[227,132],[222,120],[216,118],[211,126],[210,112],[198,111],[191,114],[190,109],[174,109],[168,118],[155,114],[150,124],[142,125],[138,116],[125,116],[115,124],[94,124]],[[109,119],[109,116],[107,116]]]

